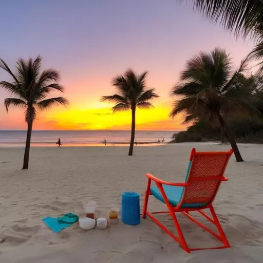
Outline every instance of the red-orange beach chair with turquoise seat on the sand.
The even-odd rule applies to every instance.
[[[232,153],[232,149],[229,152],[196,152],[195,148],[193,148],[186,172],[185,183],[166,182],[154,177],[151,174],[146,174],[148,177],[148,183],[146,187],[142,218],[145,218],[146,215],[151,218],[188,253],[191,253],[191,251],[194,250],[202,249],[230,248],[229,242],[220,226],[212,203],[216,197],[221,181],[228,180],[228,178],[224,177],[223,174]],[[155,181],[157,186],[151,187],[152,180]],[[168,211],[153,213],[147,211],[149,195],[153,195],[158,200],[165,203]],[[210,209],[212,218],[203,212],[204,209]],[[213,232],[208,227],[193,218],[190,215],[191,211],[199,212],[206,219],[215,224],[219,233],[217,234]],[[223,246],[214,248],[189,248],[183,237],[183,233],[176,217],[176,213],[178,212],[181,212],[199,227],[219,239],[223,243]],[[153,214],[171,214],[178,236],[169,231],[153,216]]]

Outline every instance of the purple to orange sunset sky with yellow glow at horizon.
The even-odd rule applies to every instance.
[[[43,57],[43,69],[60,71],[70,104],[38,112],[35,130],[130,129],[131,112],[112,114],[100,98],[115,89],[112,78],[132,68],[148,71],[147,86],[160,98],[138,110],[138,130],[183,130],[183,116],[168,117],[187,60],[199,51],[226,49],[236,66],[253,42],[236,39],[177,0],[3,0],[0,1],[0,58],[14,70],[18,58]],[[0,69],[0,80],[11,81]],[[61,96],[53,92],[52,97]],[[0,129],[26,129],[24,112],[10,108],[0,88]]]

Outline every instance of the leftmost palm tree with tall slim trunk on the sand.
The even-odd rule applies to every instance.
[[[5,99],[5,107],[8,111],[10,105],[25,109],[25,120],[27,123],[27,139],[22,169],[28,169],[29,151],[33,121],[36,116],[36,109],[43,110],[54,105],[67,105],[67,99],[63,97],[45,99],[52,90],[64,91],[64,88],[57,82],[60,74],[57,70],[46,69],[41,72],[42,58],[37,56],[33,61],[19,59],[16,62],[16,72],[12,72],[4,60],[0,59],[0,68],[7,71],[12,77],[12,82],[1,81],[0,87],[10,92],[13,98]]]

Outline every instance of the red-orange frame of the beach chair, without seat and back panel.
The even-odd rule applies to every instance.
[[[162,230],[164,230],[168,235],[170,235],[175,241],[177,241],[181,247],[187,252],[187,253],[191,253],[191,251],[196,251],[196,250],[207,250],[207,249],[223,249],[223,248],[230,248],[230,244],[229,241],[226,237],[226,235],[223,232],[223,229],[220,225],[220,222],[218,220],[218,217],[215,213],[214,207],[212,205],[217,191],[219,189],[219,186],[221,184],[221,181],[227,181],[228,178],[224,177],[223,173],[226,170],[226,167],[228,165],[229,159],[231,157],[233,153],[233,150],[231,149],[231,151],[229,152],[196,152],[196,149],[193,148],[191,155],[190,155],[190,164],[189,164],[189,169],[187,171],[187,177],[186,177],[186,181],[185,183],[172,183],[172,182],[167,182],[167,181],[163,181],[159,178],[154,177],[151,174],[146,174],[146,177],[148,178],[148,182],[147,182],[147,187],[146,187],[146,192],[145,192],[145,199],[144,199],[144,206],[143,206],[143,213],[142,213],[142,218],[145,218],[146,215],[151,218]],[[192,170],[192,166],[193,163],[195,161],[195,157],[198,155],[206,155],[206,156],[211,156],[214,155],[216,157],[216,155],[226,155],[226,162],[223,164],[222,167],[222,173],[219,176],[196,176],[196,177],[191,177],[191,170]],[[204,164],[205,166],[205,164]],[[148,204],[148,198],[150,195],[152,195],[151,193],[151,182],[152,180],[156,183],[163,199],[164,202],[167,206],[168,211],[160,211],[160,212],[149,212],[147,211],[147,204]],[[216,189],[213,193],[213,196],[211,198],[211,200],[204,206],[198,207],[198,208],[182,208],[182,204],[184,203],[184,199],[185,199],[185,190],[186,187],[189,187],[191,185],[191,183],[195,182],[195,181],[204,181],[204,183],[209,183],[209,181],[211,180],[218,180]],[[173,185],[173,186],[184,186],[184,193],[181,197],[180,202],[178,203],[177,206],[173,206],[170,204],[170,202],[168,201],[168,198],[164,192],[163,189],[163,184],[165,185]],[[204,213],[202,210],[204,209],[209,209],[212,215],[212,218],[207,215],[206,213]],[[190,215],[191,211],[197,211],[199,212],[202,216],[204,216],[206,219],[208,219],[211,223],[213,223],[218,230],[218,233],[210,230],[208,227],[204,226],[202,223],[200,223],[199,221],[197,221],[195,218],[193,218]],[[183,215],[185,215],[187,218],[189,218],[192,222],[196,223],[199,227],[203,228],[205,231],[208,231],[210,234],[212,234],[214,237],[216,237],[218,240],[220,240],[223,243],[223,246],[220,247],[213,247],[213,248],[189,248],[187,246],[187,243],[184,239],[183,233],[181,231],[181,228],[179,226],[179,222],[178,219],[176,217],[176,213],[182,213]],[[157,220],[153,214],[171,214],[172,219],[174,221],[174,226],[177,230],[178,236],[176,236],[175,234],[173,234],[170,230],[168,230],[159,220]]]

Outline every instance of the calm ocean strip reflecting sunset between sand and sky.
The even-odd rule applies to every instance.
[[[138,145],[156,145],[158,141],[172,140],[175,132],[142,131],[135,133]],[[27,132],[25,130],[0,130],[0,146],[25,146]],[[58,139],[64,146],[103,146],[104,138],[107,145],[122,146],[130,141],[128,130],[33,130],[31,146],[57,146]],[[140,143],[150,144],[140,144]],[[158,143],[156,143],[158,142]]]

